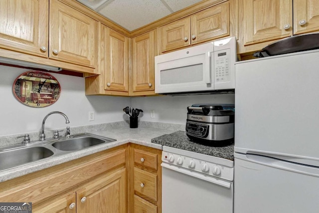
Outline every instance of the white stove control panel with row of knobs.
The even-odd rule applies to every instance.
[[[186,157],[166,151],[162,152],[161,160],[167,164],[172,164],[198,173],[228,181],[234,180],[234,168],[219,165],[211,161]]]

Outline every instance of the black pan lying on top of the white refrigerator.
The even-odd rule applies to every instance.
[[[254,57],[262,58],[272,55],[281,55],[292,52],[300,52],[319,48],[319,33],[293,35],[281,39],[255,52]]]

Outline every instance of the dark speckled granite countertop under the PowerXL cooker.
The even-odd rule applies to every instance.
[[[224,147],[212,147],[198,144],[189,140],[185,131],[177,131],[152,139],[152,143],[177,149],[211,155],[228,160],[234,160],[234,144]]]

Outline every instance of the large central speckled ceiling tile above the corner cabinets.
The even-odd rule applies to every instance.
[[[113,0],[106,3],[98,12],[129,31],[170,14],[160,0]]]

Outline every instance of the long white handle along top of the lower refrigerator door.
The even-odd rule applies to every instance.
[[[286,170],[290,172],[319,177],[318,167],[291,163],[291,162],[283,161],[276,158],[271,158],[271,157],[261,156],[261,155],[253,155],[253,154],[246,154],[245,158],[246,159],[244,160],[248,160],[250,162],[254,162],[257,164],[261,164],[261,165],[265,165],[265,166],[269,166],[269,167],[273,167],[273,168],[277,168],[281,170]]]

